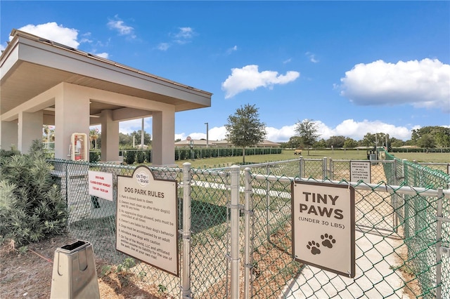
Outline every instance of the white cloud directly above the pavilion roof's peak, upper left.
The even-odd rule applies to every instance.
[[[78,48],[79,46],[79,42],[77,41],[78,30],[63,27],[63,25],[58,25],[56,22],[48,22],[39,25],[25,25],[24,27],[18,28],[18,30],[37,35],[44,39],[56,41],[57,43],[72,48]],[[9,36],[10,41],[11,39],[13,39],[13,37]]]

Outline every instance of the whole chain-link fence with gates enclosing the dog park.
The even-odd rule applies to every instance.
[[[445,251],[450,248],[450,178],[442,171],[389,155],[371,161],[370,183],[350,182],[350,161],[327,158],[237,171],[237,166],[193,169],[188,163],[150,167],[158,178],[179,186],[181,273],[174,277],[115,250],[117,175],[131,176],[134,166],[51,164],[68,202],[72,236],[90,241],[98,258],[153,284],[165,298],[450,297],[450,253]],[[113,201],[89,195],[89,170],[113,173]],[[293,260],[294,180],[355,188],[353,279]]]

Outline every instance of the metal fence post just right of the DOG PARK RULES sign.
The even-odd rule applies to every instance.
[[[183,164],[183,298],[191,298],[191,163]]]

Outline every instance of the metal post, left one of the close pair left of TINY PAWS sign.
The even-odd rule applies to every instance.
[[[231,166],[231,299],[239,298],[239,171],[237,165]]]

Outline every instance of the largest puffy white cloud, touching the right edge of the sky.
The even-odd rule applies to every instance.
[[[340,94],[356,105],[410,104],[450,113],[450,65],[437,59],[360,63],[340,81]]]

